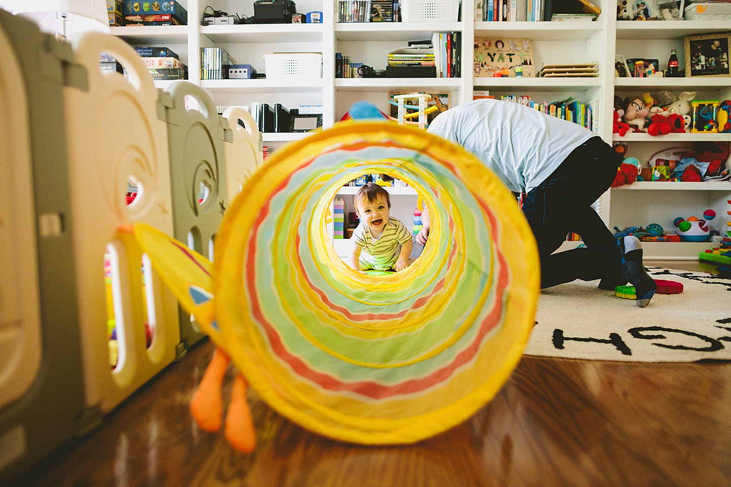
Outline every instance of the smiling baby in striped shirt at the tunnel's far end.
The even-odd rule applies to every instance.
[[[355,243],[350,265],[356,271],[403,271],[411,264],[412,235],[401,220],[389,216],[390,209],[388,192],[377,184],[367,183],[355,195],[360,224],[350,238]]]

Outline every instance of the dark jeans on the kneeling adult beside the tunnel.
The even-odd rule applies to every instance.
[[[611,287],[623,279],[616,239],[591,208],[612,185],[620,164],[609,144],[592,137],[526,195],[523,214],[538,243],[542,288],[575,279],[606,279]],[[569,232],[581,235],[586,248],[553,254]]]

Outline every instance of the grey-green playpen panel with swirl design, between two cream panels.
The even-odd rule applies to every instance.
[[[212,259],[216,232],[228,205],[224,140],[231,142],[227,121],[216,113],[213,100],[199,86],[174,81],[162,97],[170,143],[173,192],[173,236]],[[198,110],[186,108],[192,97]],[[181,340],[186,347],[205,334],[180,312]]]

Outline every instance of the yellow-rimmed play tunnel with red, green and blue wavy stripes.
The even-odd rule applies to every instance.
[[[357,175],[417,190],[430,241],[391,276],[354,271],[327,233]],[[340,124],[281,148],[216,238],[217,325],[271,407],[327,437],[415,442],[469,418],[520,360],[539,261],[515,199],[462,148],[384,122]]]

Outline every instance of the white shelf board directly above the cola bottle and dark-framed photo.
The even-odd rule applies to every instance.
[[[731,29],[728,20],[617,20],[617,39],[683,39],[694,34],[712,34]]]

